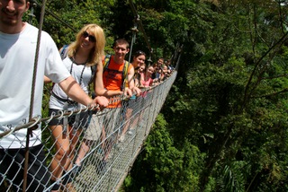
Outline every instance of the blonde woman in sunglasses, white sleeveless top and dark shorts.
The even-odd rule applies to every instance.
[[[96,24],[88,24],[76,34],[76,41],[60,49],[60,54],[67,70],[75,78],[76,83],[89,92],[90,83],[94,83],[94,92],[99,100],[108,100],[103,95],[103,65],[105,37],[103,29]],[[49,116],[58,114],[59,110],[72,111],[83,106],[61,90],[56,83],[49,99]],[[51,161],[52,191],[60,187],[55,183],[64,171],[71,169],[75,155],[75,147],[83,128],[88,125],[88,112],[73,115],[68,118],[52,119],[49,127],[54,139],[56,154]],[[65,185],[65,182],[62,181]]]

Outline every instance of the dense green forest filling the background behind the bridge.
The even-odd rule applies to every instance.
[[[150,52],[147,35],[152,63],[181,60],[121,190],[288,191],[287,1],[49,0],[43,30],[60,48],[97,23],[110,53],[114,39],[132,40],[131,2],[145,30],[133,50]]]

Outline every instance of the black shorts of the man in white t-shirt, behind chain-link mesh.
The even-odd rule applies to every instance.
[[[43,145],[29,148],[26,191],[43,191],[49,187],[50,172],[46,166]],[[25,149],[0,148],[0,184],[7,183],[7,189],[23,190]]]

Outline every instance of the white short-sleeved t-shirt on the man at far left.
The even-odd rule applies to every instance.
[[[0,133],[29,121],[37,38],[38,29],[28,23],[18,34],[0,32]],[[33,118],[41,116],[44,74],[54,83],[70,75],[55,42],[45,31],[41,32],[36,74]],[[0,138],[0,148],[25,147],[26,133],[24,128]],[[40,135],[39,125],[32,132],[30,146],[40,144]]]

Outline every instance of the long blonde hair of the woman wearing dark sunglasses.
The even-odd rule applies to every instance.
[[[87,24],[76,34],[76,41],[69,45],[67,56],[75,56],[77,49],[81,45],[81,37],[85,31],[90,31],[96,39],[94,48],[91,49],[89,57],[87,58],[86,65],[102,65],[106,40],[103,29],[97,24]]]

